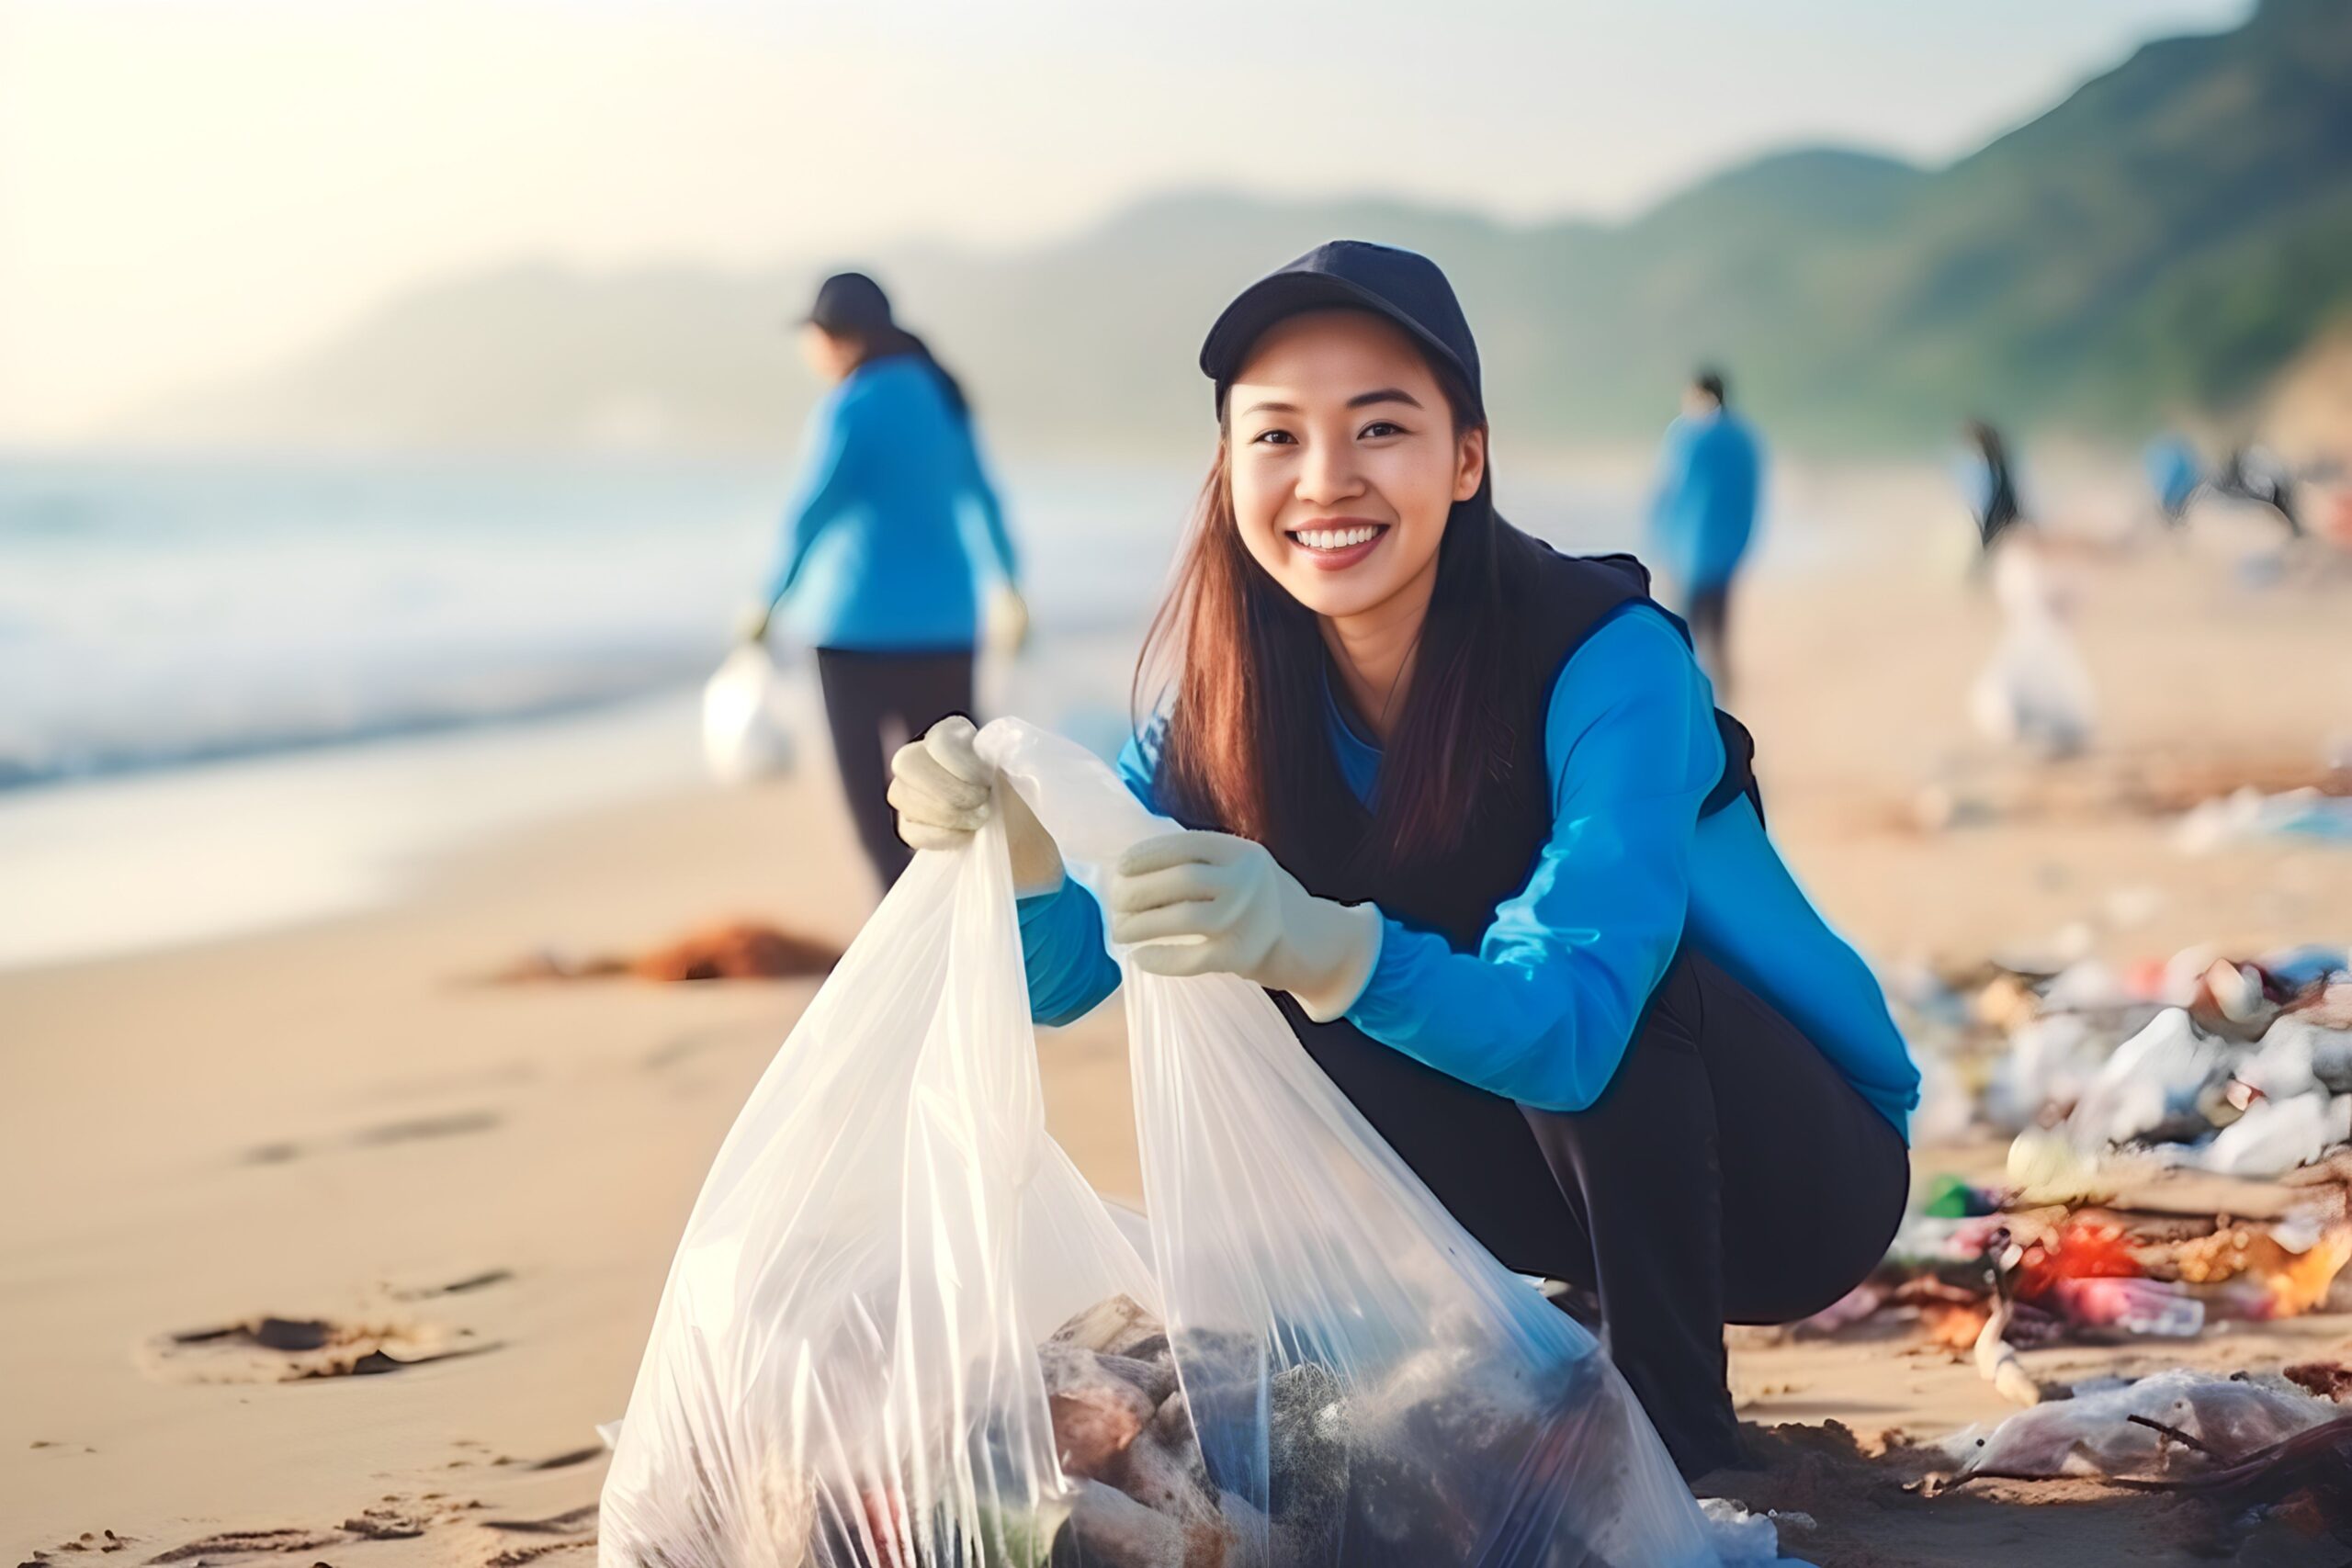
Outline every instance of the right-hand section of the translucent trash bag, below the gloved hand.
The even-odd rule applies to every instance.
[[[1082,877],[1174,830],[1068,741],[1000,719],[978,745]],[[1152,1265],[1192,1418],[1228,1516],[1272,1514],[1244,1533],[1244,1561],[1712,1559],[1592,1335],[1470,1239],[1263,990],[1131,964],[1122,987]],[[1301,1382],[1329,1392],[1329,1528],[1270,1474],[1301,1441],[1282,1429]]]

